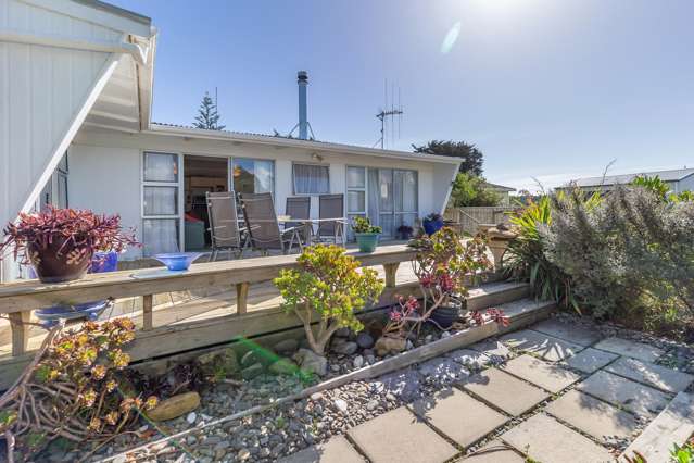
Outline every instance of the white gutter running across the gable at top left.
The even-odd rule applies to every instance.
[[[141,65],[147,65],[149,47],[140,47],[127,41],[80,40],[55,34],[27,34],[13,29],[0,29],[0,41],[39,45],[43,47],[70,48],[74,50],[104,51],[108,53],[127,53]]]

